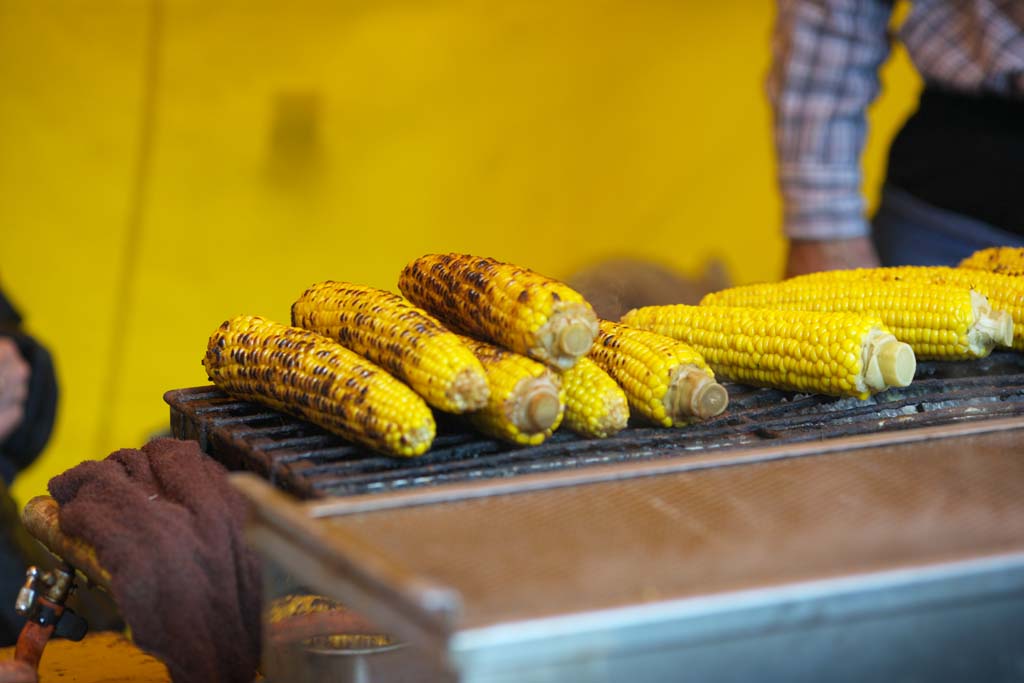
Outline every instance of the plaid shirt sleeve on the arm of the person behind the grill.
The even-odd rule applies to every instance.
[[[778,2],[768,93],[791,239],[868,232],[860,154],[891,13],[883,0]]]

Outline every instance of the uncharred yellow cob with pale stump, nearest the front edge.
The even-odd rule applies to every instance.
[[[647,306],[623,322],[691,344],[720,377],[867,398],[913,379],[916,360],[877,317],[728,306]]]

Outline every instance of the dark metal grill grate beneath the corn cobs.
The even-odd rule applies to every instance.
[[[909,387],[866,401],[742,385],[728,389],[730,404],[723,415],[684,429],[631,426],[607,439],[558,432],[544,444],[525,449],[482,438],[458,418],[438,415],[433,447],[410,460],[351,445],[212,386],[168,391],[164,398],[171,407],[175,436],[197,439],[229,469],[254,471],[309,499],[1024,415],[1024,355],[920,362]]]

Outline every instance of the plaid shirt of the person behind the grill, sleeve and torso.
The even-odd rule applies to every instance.
[[[779,0],[768,92],[785,233],[868,232],[860,155],[892,35],[883,0]],[[1024,98],[1024,0],[918,0],[898,31],[926,82]]]

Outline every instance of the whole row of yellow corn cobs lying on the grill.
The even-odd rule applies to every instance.
[[[716,374],[864,398],[906,386],[915,357],[1010,345],[1024,301],[1007,283],[982,281],[1024,280],[964,269],[975,273],[965,285],[952,270],[934,285],[924,272],[818,273],[727,290],[700,306],[641,308],[616,324],[525,268],[433,254],[403,269],[404,298],[327,282],[293,304],[291,326],[231,318],[210,338],[204,366],[229,394],[396,456],[430,447],[431,407],[522,445],[563,422],[604,437],[630,415],[672,427],[720,414],[728,396]],[[992,310],[986,291],[1009,312]]]

